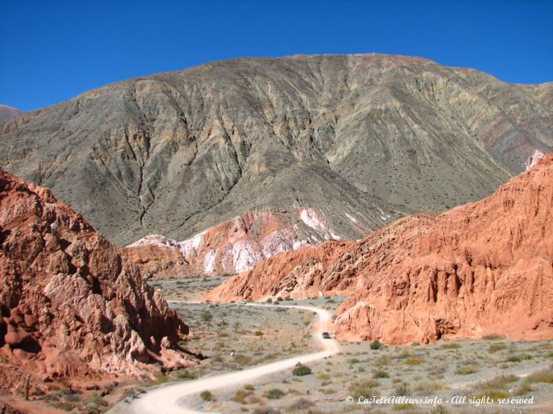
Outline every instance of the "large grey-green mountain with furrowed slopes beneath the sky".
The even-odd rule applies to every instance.
[[[274,211],[309,233],[299,208],[355,239],[486,197],[552,150],[552,90],[413,57],[219,61],[3,121],[0,165],[120,246]]]

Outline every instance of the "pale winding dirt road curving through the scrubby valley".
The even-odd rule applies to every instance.
[[[321,335],[324,331],[328,331],[332,323],[332,315],[324,309],[312,306],[275,306],[266,304],[245,304],[241,306],[274,306],[279,308],[303,309],[305,311],[317,313],[312,337],[315,339],[317,346],[320,346],[323,350],[315,353],[295,355],[276,362],[270,362],[269,364],[247,368],[242,371],[234,371],[231,373],[214,375],[212,377],[200,378],[200,380],[177,382],[150,388],[145,393],[141,394],[140,397],[132,400],[131,403],[124,408],[124,412],[129,414],[198,414],[200,413],[199,411],[187,408],[182,403],[183,397],[199,394],[205,390],[214,391],[221,388],[243,385],[248,381],[255,380],[264,375],[292,368],[297,362],[306,364],[308,362],[317,361],[318,359],[335,355],[340,350],[340,346],[335,339],[323,339]]]

